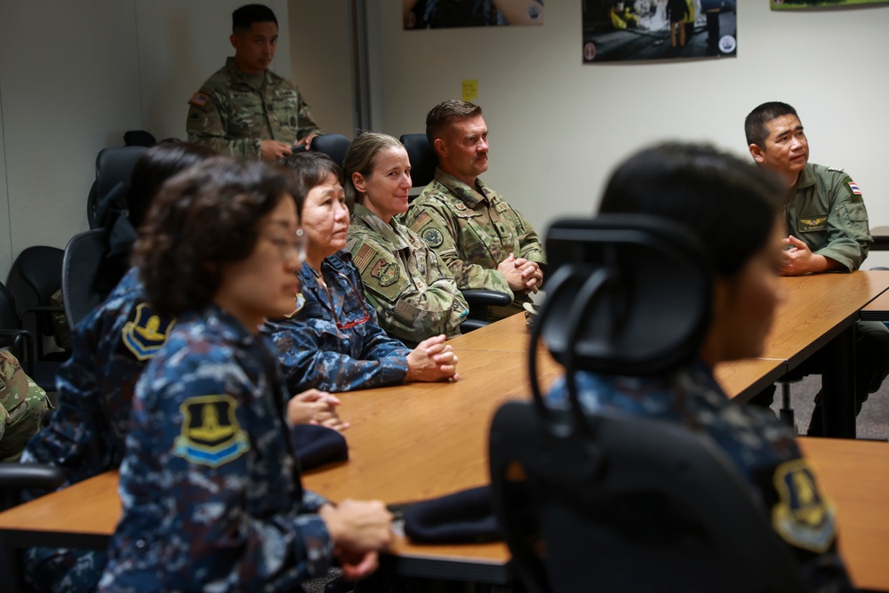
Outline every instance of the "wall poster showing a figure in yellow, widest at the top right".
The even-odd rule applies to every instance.
[[[738,0],[581,0],[583,63],[734,57]]]

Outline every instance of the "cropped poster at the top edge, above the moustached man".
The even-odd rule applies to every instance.
[[[543,0],[402,0],[404,30],[542,25]]]

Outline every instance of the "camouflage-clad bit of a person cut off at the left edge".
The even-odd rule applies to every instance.
[[[12,352],[0,350],[0,460],[19,461],[48,408],[44,390],[21,370]]]

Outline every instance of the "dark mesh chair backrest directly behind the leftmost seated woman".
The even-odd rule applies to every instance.
[[[102,228],[79,233],[68,241],[62,262],[62,299],[65,317],[71,327],[102,302],[102,296],[93,285],[104,250],[105,231]]]

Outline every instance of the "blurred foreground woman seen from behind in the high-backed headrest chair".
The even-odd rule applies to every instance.
[[[794,434],[771,411],[729,400],[713,376],[718,363],[763,351],[783,298],[778,278],[782,195],[769,173],[706,146],[664,144],[621,164],[599,212],[662,216],[699,236],[716,276],[712,322],[699,359],[674,376],[581,372],[575,377],[581,401],[591,410],[638,414],[707,432],[769,509],[773,529],[799,559],[806,590],[845,590],[850,585],[837,554],[833,509],[821,496]],[[561,405],[566,397],[565,383],[559,381],[549,401]]]

